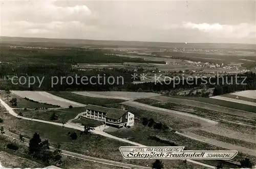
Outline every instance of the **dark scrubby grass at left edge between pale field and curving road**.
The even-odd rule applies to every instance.
[[[13,93],[9,93],[6,94],[5,91],[1,90],[0,91],[0,95],[1,98],[3,98],[3,100],[10,106],[13,108],[30,108],[30,109],[35,109],[35,108],[40,108],[40,107],[46,107],[46,108],[58,108],[59,106],[54,106],[54,105],[50,105],[50,104],[46,104],[46,103],[35,103],[35,102],[31,102],[28,100],[25,100],[24,98],[13,94]],[[17,99],[17,106],[12,106],[10,104],[10,100],[12,98],[16,98]]]

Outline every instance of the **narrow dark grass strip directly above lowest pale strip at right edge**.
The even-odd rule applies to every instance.
[[[213,139],[217,139],[219,141],[228,142],[228,143],[231,143],[231,144],[234,144],[234,145],[237,145],[237,146],[242,146],[242,147],[246,147],[246,148],[250,148],[250,149],[256,149],[256,143],[251,143],[251,142],[242,141],[242,140],[239,140],[239,139],[229,138],[229,137],[221,136],[221,135],[218,135],[218,134],[213,134],[213,133],[210,133],[210,132],[206,132],[206,131],[203,131],[203,130],[194,130],[194,131],[191,131],[191,132],[193,132],[195,134],[198,134],[198,135],[205,136],[207,138],[213,138]]]

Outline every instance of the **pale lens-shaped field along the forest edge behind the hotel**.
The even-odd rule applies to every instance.
[[[95,98],[121,99],[131,101],[141,98],[151,98],[160,94],[150,92],[129,92],[129,91],[77,91],[76,94],[91,96]]]

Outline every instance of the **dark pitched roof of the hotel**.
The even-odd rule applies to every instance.
[[[127,112],[127,110],[121,110],[116,108],[109,108],[109,107],[102,107],[102,106],[96,106],[96,105],[88,105],[87,109],[89,110],[96,110],[103,113],[106,113],[106,117],[112,118],[112,119],[118,119],[120,118],[124,113]]]

